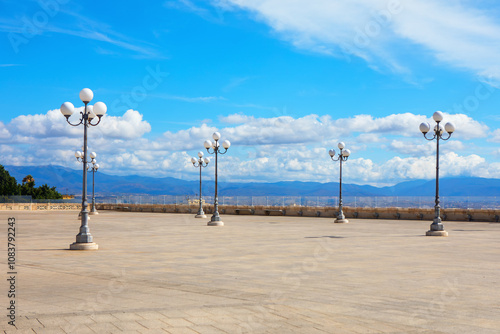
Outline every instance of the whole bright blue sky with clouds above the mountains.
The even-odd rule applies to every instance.
[[[196,179],[214,131],[224,181],[349,183],[434,175],[418,125],[457,128],[442,175],[500,177],[495,1],[68,0],[0,3],[0,163],[77,168],[82,127],[59,113],[88,87],[102,172]],[[212,166],[213,167],[213,166]],[[210,168],[209,168],[210,170]],[[213,170],[211,170],[213,172]],[[211,173],[208,173],[210,177]]]

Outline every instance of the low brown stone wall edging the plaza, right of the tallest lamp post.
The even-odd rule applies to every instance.
[[[213,213],[212,205],[204,205],[207,215]],[[158,212],[158,213],[191,213],[198,212],[197,205],[153,205],[153,204],[97,204],[97,210],[118,210],[127,212]],[[280,215],[302,217],[335,218],[337,208],[331,207],[301,207],[301,206],[235,206],[220,205],[219,212],[226,215]],[[347,218],[358,219],[402,219],[402,220],[432,220],[434,209],[418,208],[351,208],[345,207]],[[441,218],[451,221],[482,221],[499,222],[500,210],[480,209],[441,209]]]

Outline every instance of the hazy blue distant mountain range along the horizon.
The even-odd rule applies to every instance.
[[[37,186],[47,183],[63,194],[80,194],[82,172],[61,166],[4,166],[20,182],[31,174]],[[89,192],[92,176],[89,174]],[[224,196],[337,196],[338,183],[275,182],[275,183],[219,183],[219,194]],[[390,187],[343,184],[346,196],[434,196],[435,180],[415,180]],[[100,195],[194,195],[199,181],[186,181],[171,177],[154,178],[138,175],[114,176],[96,174],[96,192]],[[214,192],[213,181],[203,183],[203,193]],[[500,196],[500,179],[453,177],[440,179],[442,196]]]

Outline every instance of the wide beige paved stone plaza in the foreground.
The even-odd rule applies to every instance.
[[[499,333],[500,224],[101,211],[98,251],[70,251],[77,212],[17,225],[18,330],[3,333]]]

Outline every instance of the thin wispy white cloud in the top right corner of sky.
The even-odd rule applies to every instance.
[[[336,56],[354,55],[374,67],[407,72],[408,44],[417,57],[500,79],[500,25],[471,1],[444,0],[217,0],[243,9],[295,47]],[[221,5],[222,4],[222,5]]]

